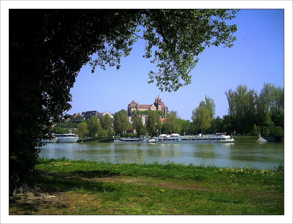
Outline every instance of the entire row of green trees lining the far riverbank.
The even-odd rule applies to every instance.
[[[114,131],[117,135],[129,127],[133,127],[138,136],[149,133],[156,136],[160,133],[178,133],[180,135],[197,133],[207,134],[216,132],[227,132],[234,135],[236,130],[238,135],[258,135],[258,134],[282,134],[284,129],[284,89],[275,87],[271,83],[265,83],[258,95],[252,89],[248,90],[246,85],[239,85],[235,91],[230,89],[225,92],[229,108],[228,115],[215,118],[216,105],[214,100],[205,96],[199,106],[192,111],[191,121],[181,119],[177,111],[170,111],[164,120],[160,122],[162,111],[132,111],[135,115],[133,124],[128,123],[127,112],[122,109],[114,115]],[[161,113],[160,113],[161,112]],[[140,118],[144,113],[148,116],[146,125]],[[67,123],[69,126],[71,120]],[[72,123],[81,122],[80,120]],[[76,124],[74,123],[74,124]],[[87,122],[77,125],[79,136],[94,136],[103,129],[105,136],[112,135],[111,118],[102,116],[100,122],[98,118],[91,118]],[[57,127],[58,128],[58,127]],[[59,132],[64,129],[59,128]]]

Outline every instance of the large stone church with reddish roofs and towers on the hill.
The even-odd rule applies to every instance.
[[[164,118],[167,116],[168,113],[168,107],[164,104],[162,101],[160,94],[159,97],[156,97],[155,101],[153,104],[138,104],[134,100],[130,104],[128,104],[127,107],[127,116],[131,116],[132,111],[147,111],[147,110],[160,110],[163,111],[164,113]]]

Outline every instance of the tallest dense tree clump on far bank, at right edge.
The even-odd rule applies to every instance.
[[[264,83],[258,94],[246,85],[225,92],[229,108],[223,129],[238,133],[281,134],[284,129],[284,88]],[[254,127],[255,125],[255,127]],[[254,128],[253,128],[254,127]]]

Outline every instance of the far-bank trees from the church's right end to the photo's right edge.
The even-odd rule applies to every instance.
[[[234,135],[234,131],[238,135],[284,133],[284,88],[264,83],[258,94],[246,85],[239,85],[235,91],[230,89],[225,94],[228,115],[215,118],[214,100],[205,96],[205,101],[192,111],[192,122],[181,120],[177,111],[171,111],[162,125],[162,132],[181,135],[217,132]]]

